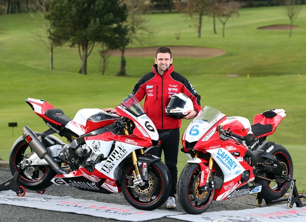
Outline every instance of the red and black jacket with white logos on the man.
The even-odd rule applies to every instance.
[[[139,101],[146,97],[145,112],[157,130],[180,128],[182,120],[167,116],[165,111],[170,97],[180,92],[186,94],[191,98],[193,108],[198,113],[201,110],[201,96],[185,77],[173,71],[172,64],[162,76],[158,74],[156,64],[152,66],[152,70],[153,72],[147,73],[136,83],[132,94]]]

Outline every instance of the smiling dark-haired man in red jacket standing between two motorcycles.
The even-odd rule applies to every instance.
[[[141,101],[145,98],[145,112],[153,121],[159,133],[161,146],[148,153],[160,157],[164,152],[165,165],[168,167],[172,187],[169,193],[167,208],[175,209],[175,194],[178,179],[177,161],[180,142],[181,119],[167,116],[165,107],[173,94],[182,92],[191,98],[193,110],[188,111],[184,119],[192,119],[201,110],[200,95],[190,82],[173,71],[173,57],[170,48],[162,46],[156,50],[155,64],[152,72],[145,74],[135,85],[132,94]]]

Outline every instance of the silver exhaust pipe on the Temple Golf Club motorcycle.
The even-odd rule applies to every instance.
[[[38,157],[42,160],[45,159],[50,167],[58,174],[63,175],[67,174],[58,164],[53,160],[53,158],[49,155],[49,150],[40,142],[37,135],[33,133],[33,131],[28,127],[25,126],[23,128],[22,133],[23,138],[32,148],[32,150],[38,155]]]

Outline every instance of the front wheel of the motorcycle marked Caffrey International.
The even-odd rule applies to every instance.
[[[183,169],[179,178],[178,197],[184,211],[188,214],[204,213],[213,201],[216,188],[210,190],[199,187],[201,168],[198,164],[188,164]],[[214,181],[214,175],[209,178],[210,184]]]

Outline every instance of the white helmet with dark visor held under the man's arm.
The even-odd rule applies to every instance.
[[[188,115],[187,111],[191,109],[193,109],[193,103],[184,93],[172,95],[165,108],[167,115],[172,117],[185,117]]]

